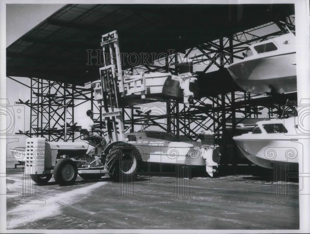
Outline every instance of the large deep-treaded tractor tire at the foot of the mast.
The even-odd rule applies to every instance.
[[[126,144],[113,146],[105,161],[109,176],[115,181],[132,181],[138,167],[138,159],[139,151],[135,147]]]

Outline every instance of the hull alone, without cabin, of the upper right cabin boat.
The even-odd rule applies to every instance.
[[[297,91],[296,53],[247,60],[227,69],[237,85],[250,93]]]

